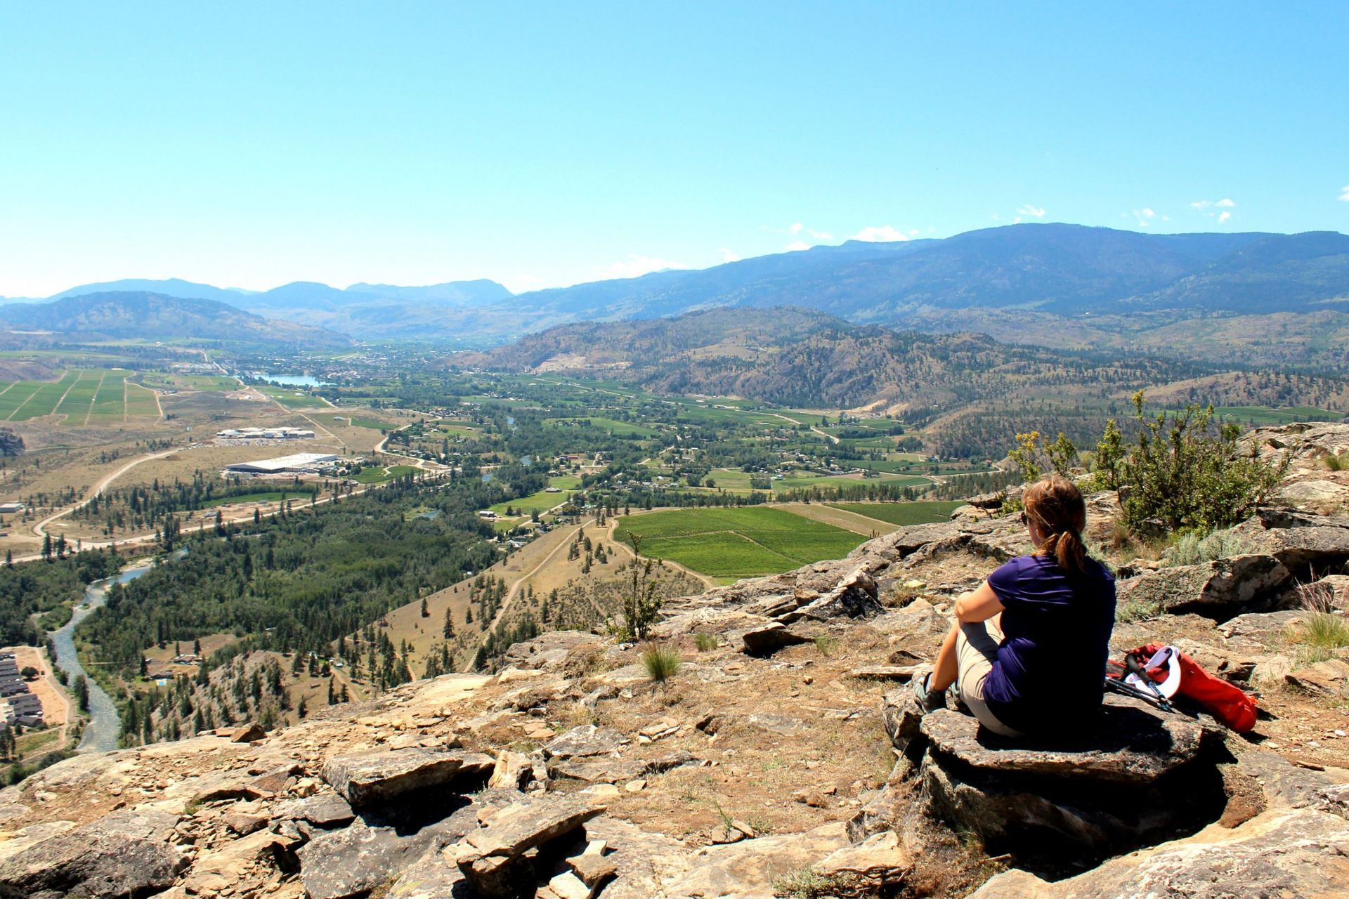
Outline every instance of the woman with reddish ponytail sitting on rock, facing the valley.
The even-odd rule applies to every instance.
[[[956,624],[934,670],[913,682],[924,712],[942,708],[955,685],[979,724],[1006,737],[1090,726],[1114,627],[1114,577],[1082,543],[1082,492],[1050,474],[1023,500],[1035,551],[955,601]]]

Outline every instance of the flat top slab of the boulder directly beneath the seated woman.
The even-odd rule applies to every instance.
[[[921,732],[939,753],[979,771],[1118,783],[1151,783],[1190,762],[1203,735],[1198,721],[1118,695],[1106,695],[1099,726],[1072,743],[1008,740],[948,709],[923,716]]]

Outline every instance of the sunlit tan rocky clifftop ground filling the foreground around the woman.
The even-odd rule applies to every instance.
[[[1219,558],[1121,571],[1114,648],[1175,643],[1259,693],[1246,737],[1132,700],[1044,745],[919,718],[905,681],[954,596],[1029,550],[967,507],[670,604],[665,683],[556,632],[285,731],[57,764],[0,791],[0,896],[1344,895],[1349,663],[1307,631],[1346,605],[1341,445],[1256,433],[1295,456],[1280,504]]]

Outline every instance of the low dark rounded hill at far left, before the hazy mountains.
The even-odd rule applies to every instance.
[[[148,291],[112,291],[65,297],[46,303],[0,306],[9,330],[148,340],[221,340],[254,344],[344,346],[349,338],[321,328],[281,322],[213,299],[166,297]]]

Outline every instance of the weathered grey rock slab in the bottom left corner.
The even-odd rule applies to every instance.
[[[0,896],[142,896],[173,886],[188,865],[170,842],[178,815],[113,811],[0,863]]]

